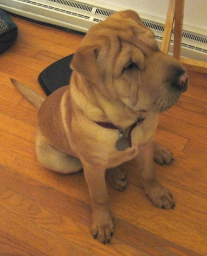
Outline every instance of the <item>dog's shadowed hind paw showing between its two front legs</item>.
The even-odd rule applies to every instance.
[[[124,191],[127,188],[128,179],[125,173],[119,169],[111,168],[106,170],[106,179],[110,183],[111,187],[119,191]]]

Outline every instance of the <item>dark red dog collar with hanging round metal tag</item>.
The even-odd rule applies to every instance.
[[[126,130],[122,131],[120,128],[118,128],[116,125],[109,123],[109,122],[96,122],[98,125],[104,127],[104,128],[108,128],[108,129],[114,129],[116,130],[119,135],[120,138],[118,139],[118,141],[116,141],[116,148],[119,151],[124,151],[127,148],[131,148],[132,147],[132,142],[131,142],[131,132],[133,131],[133,129],[137,126],[140,125],[142,123],[142,121],[144,121],[145,117],[143,118],[138,118],[137,121],[135,123],[133,123],[129,128],[127,128]],[[126,131],[129,129],[128,135],[126,135]]]

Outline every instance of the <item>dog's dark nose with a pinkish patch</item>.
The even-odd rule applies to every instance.
[[[178,69],[175,73],[173,87],[185,92],[188,88],[188,74],[183,69]]]

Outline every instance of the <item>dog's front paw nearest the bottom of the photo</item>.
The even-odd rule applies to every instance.
[[[113,234],[114,223],[110,213],[103,216],[99,213],[96,218],[93,218],[91,235],[94,239],[97,239],[100,243],[109,244]]]

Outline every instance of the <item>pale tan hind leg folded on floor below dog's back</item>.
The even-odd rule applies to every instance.
[[[69,174],[83,168],[78,158],[52,147],[39,132],[36,135],[36,154],[43,166],[58,173]]]

